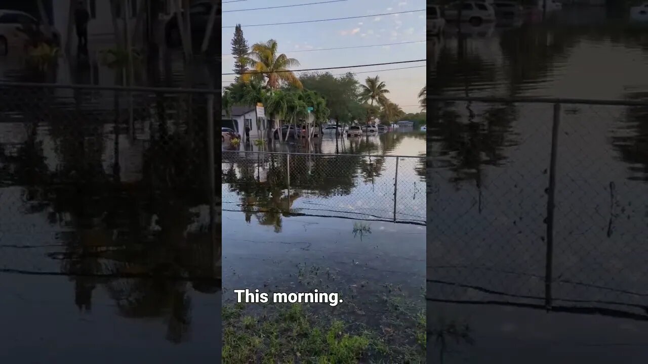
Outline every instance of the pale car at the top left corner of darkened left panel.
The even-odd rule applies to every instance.
[[[25,12],[17,10],[0,9],[0,56],[6,56],[10,51],[25,49],[25,44],[29,41],[27,34],[18,30],[22,25],[32,25],[41,31],[44,31],[40,21]],[[54,43],[58,44],[58,33],[52,34]]]

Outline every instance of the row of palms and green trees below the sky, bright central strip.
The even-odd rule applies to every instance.
[[[248,45],[239,25],[231,41],[234,73],[230,85],[224,87],[222,100],[226,113],[235,105],[254,106],[262,103],[273,120],[297,124],[305,119],[308,107],[320,124],[335,120],[337,124],[370,122],[382,124],[403,120],[410,116],[424,124],[426,87],[419,92],[422,112],[406,114],[398,104],[389,100],[389,89],[379,76],[369,76],[364,84],[351,72],[336,76],[330,72],[295,74],[299,61],[279,53],[277,40]],[[409,120],[409,119],[408,119]],[[287,137],[288,135],[286,135]]]

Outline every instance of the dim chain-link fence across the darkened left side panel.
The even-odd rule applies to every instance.
[[[220,286],[220,98],[16,83],[0,98],[0,269]]]

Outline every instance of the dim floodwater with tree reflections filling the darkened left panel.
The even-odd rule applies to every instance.
[[[200,97],[135,94],[131,130],[113,91],[0,94],[0,361],[218,362],[220,220],[203,128],[174,117]]]

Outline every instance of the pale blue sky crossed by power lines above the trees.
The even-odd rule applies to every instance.
[[[317,23],[246,27],[246,25],[252,24],[421,10],[425,9],[425,1],[423,0],[346,0],[336,3],[294,6],[292,8],[227,12],[227,10],[316,3],[320,1],[327,0],[245,0],[224,3],[222,26],[228,27],[240,23],[249,45],[270,39],[277,40],[279,52],[286,53],[287,56],[299,60],[301,65],[297,69],[399,62],[426,58],[425,11]],[[230,54],[230,42],[233,34],[234,28],[222,28],[222,54],[224,54],[222,73],[233,72],[234,61]],[[419,41],[419,43],[311,51],[314,49],[380,45],[404,41]],[[378,72],[384,69],[413,66],[421,67]],[[417,94],[421,87],[425,85],[425,62],[330,70],[333,74],[343,74],[347,71],[363,72],[356,75],[356,78],[361,82],[364,82],[367,76],[380,76],[380,80],[384,81],[389,91],[391,91],[389,98],[393,102],[399,104],[406,112],[420,111],[417,106]],[[364,73],[367,71],[372,72]],[[223,76],[223,80],[233,80],[233,76]]]

